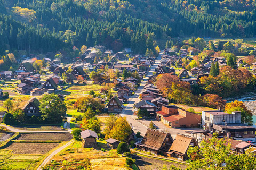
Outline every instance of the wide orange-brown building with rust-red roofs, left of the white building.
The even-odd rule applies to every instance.
[[[170,128],[198,127],[201,124],[201,115],[185,111],[177,106],[162,106],[156,112],[156,120]]]

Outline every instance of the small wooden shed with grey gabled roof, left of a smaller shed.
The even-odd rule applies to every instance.
[[[97,139],[99,138],[96,132],[89,129],[81,132],[82,144],[84,148],[97,147]]]

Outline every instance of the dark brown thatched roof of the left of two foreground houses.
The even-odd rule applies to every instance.
[[[167,135],[170,135],[171,137],[170,133],[149,128],[143,137],[141,144],[160,149]]]

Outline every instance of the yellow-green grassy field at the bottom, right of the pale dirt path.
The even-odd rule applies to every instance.
[[[77,169],[80,164],[85,169],[130,169],[125,166],[125,157],[119,157],[116,149],[109,150],[106,141],[97,142],[98,149],[94,149],[83,148],[82,142],[75,141],[58,155],[55,155],[52,158],[55,161],[47,164],[46,167]],[[101,151],[100,148],[105,148],[106,151]]]

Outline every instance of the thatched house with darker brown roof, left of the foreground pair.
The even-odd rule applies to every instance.
[[[142,141],[136,142],[135,145],[138,149],[159,155],[163,151],[168,151],[172,142],[170,133],[149,128]]]

